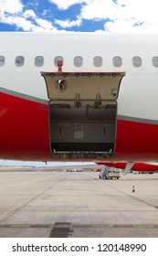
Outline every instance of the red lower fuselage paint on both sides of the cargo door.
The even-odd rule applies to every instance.
[[[0,92],[0,158],[53,160],[48,102],[43,104]],[[158,125],[117,120],[113,160],[144,162],[157,159]]]

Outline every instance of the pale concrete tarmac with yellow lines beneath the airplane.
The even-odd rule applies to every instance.
[[[157,238],[158,173],[0,171],[0,238]]]

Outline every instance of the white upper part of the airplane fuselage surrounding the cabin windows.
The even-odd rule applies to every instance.
[[[11,42],[8,47],[8,42]],[[1,33],[0,87],[47,100],[45,82],[40,71],[55,71],[56,57],[62,57],[64,71],[125,71],[118,100],[118,115],[158,122],[158,35],[96,35],[96,34],[27,34]],[[16,67],[17,56],[24,57],[24,65]],[[35,58],[44,58],[42,67],[35,66]],[[82,57],[81,67],[74,65],[75,57]],[[93,59],[101,57],[102,65],[95,67]],[[113,65],[113,58],[121,58],[121,66]],[[142,59],[134,67],[132,59]]]

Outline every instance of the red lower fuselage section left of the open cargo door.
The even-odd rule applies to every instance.
[[[1,158],[50,159],[48,123],[48,105],[0,92]]]

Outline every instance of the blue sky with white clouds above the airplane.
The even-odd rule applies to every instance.
[[[156,32],[157,0],[0,0],[0,31]]]

